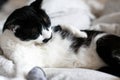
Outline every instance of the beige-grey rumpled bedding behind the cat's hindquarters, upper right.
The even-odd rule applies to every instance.
[[[108,0],[102,16],[92,22],[91,29],[120,35],[120,0]]]

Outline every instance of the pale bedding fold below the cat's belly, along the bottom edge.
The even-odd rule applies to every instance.
[[[81,68],[49,68],[44,69],[48,80],[120,80],[102,72]]]

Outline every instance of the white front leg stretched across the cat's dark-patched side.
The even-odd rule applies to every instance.
[[[87,34],[83,31],[80,31],[76,27],[73,26],[66,26],[66,25],[59,25],[63,30],[67,30],[72,33],[76,37],[87,38]]]

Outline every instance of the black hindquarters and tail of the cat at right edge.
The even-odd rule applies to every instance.
[[[97,53],[108,65],[102,67],[103,71],[120,77],[120,37],[116,35],[106,35],[97,41]]]

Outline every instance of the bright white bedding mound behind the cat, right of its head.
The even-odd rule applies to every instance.
[[[88,29],[95,18],[83,0],[43,0],[42,9],[50,16],[52,26],[63,24]]]

